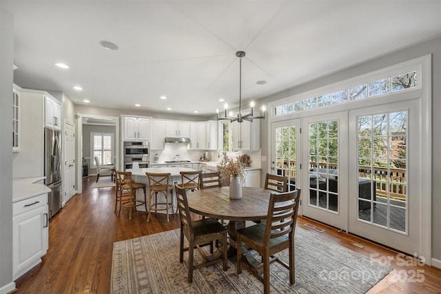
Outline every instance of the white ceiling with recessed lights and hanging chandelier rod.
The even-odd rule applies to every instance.
[[[238,105],[238,50],[246,101],[441,35],[441,1],[1,1],[17,85],[202,116]]]

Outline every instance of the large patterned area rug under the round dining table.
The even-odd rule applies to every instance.
[[[365,293],[392,270],[301,227],[295,242],[296,284],[289,284],[287,269],[271,264],[271,293]],[[279,257],[287,261],[287,250]],[[263,284],[246,269],[237,275],[236,264],[229,260],[228,266],[196,269],[187,283],[178,229],[115,242],[111,293],[263,293]]]

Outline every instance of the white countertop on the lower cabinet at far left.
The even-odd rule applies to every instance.
[[[12,180],[12,203],[49,193],[50,189],[44,184],[38,184],[45,177],[14,178]]]

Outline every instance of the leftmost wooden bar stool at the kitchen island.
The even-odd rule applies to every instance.
[[[129,220],[132,220],[132,209],[136,210],[136,207],[144,205],[145,211],[147,211],[147,194],[145,192],[145,184],[141,182],[134,182],[131,171],[116,171],[116,175],[118,176],[118,182],[116,183],[115,211],[116,204],[120,202],[118,216],[121,213],[121,207],[127,207],[129,209]],[[138,189],[143,189],[144,201],[136,199],[136,190]],[[126,197],[123,196],[124,191],[127,191]]]

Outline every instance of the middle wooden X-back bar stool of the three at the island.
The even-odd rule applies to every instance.
[[[152,210],[157,213],[158,211],[167,212],[167,222],[170,222],[168,216],[168,210],[170,207],[173,211],[173,186],[170,185],[170,173],[155,174],[145,173],[149,180],[149,214],[147,216],[147,222],[150,222],[150,214]],[[162,193],[165,196],[165,202],[158,202],[158,193]],[[152,204],[152,197],[154,195],[154,203]],[[170,197],[169,197],[170,196]],[[170,202],[171,200],[171,202]],[[165,208],[158,208],[158,205],[165,205]]]

